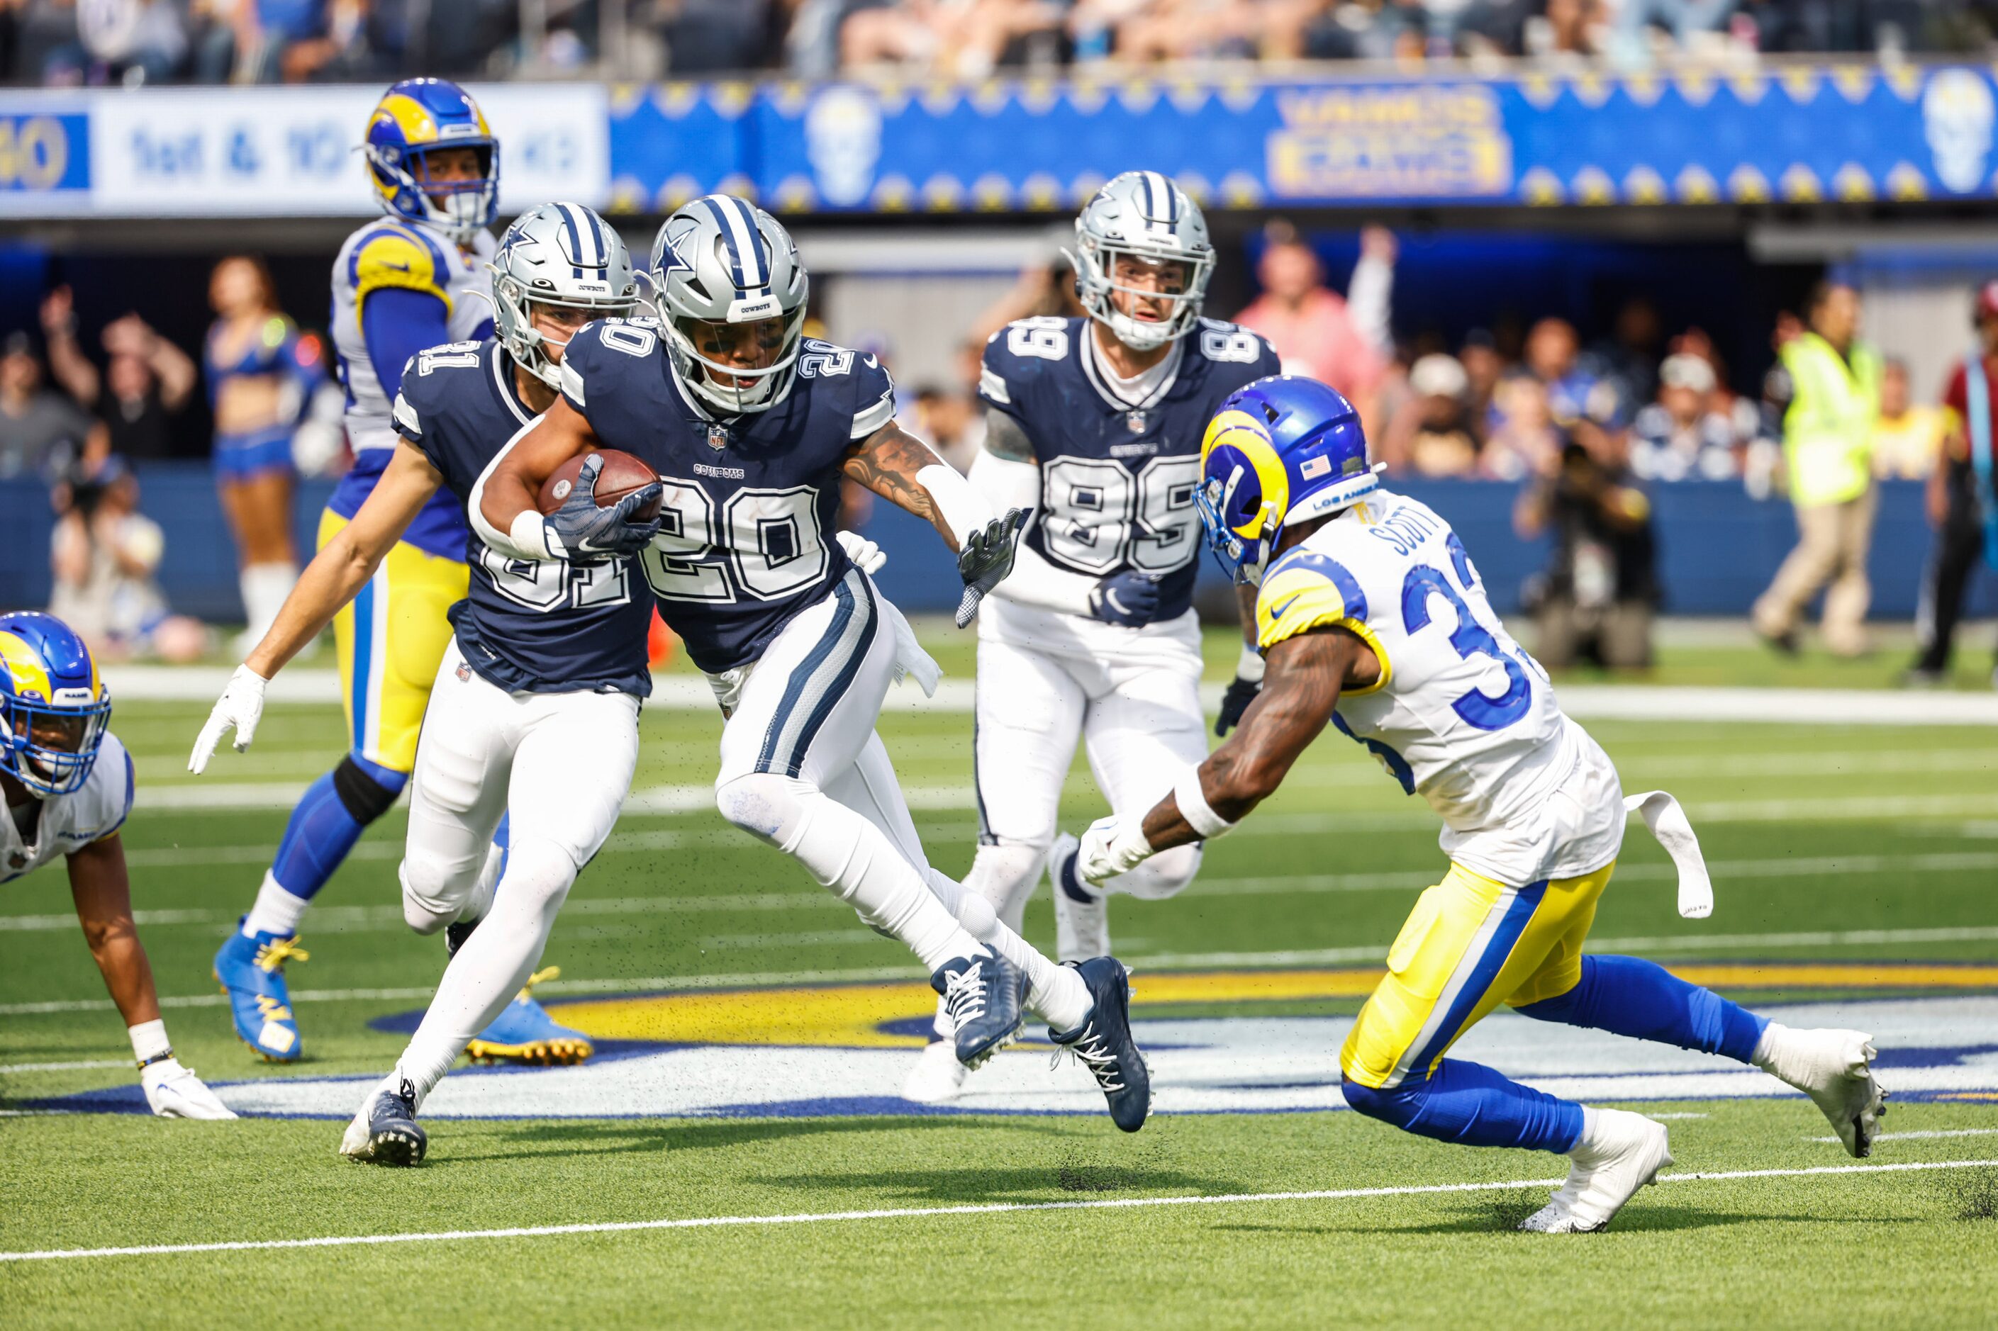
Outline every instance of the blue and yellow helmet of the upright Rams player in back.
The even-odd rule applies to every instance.
[[[478,152],[478,178],[432,184],[424,158],[444,148]],[[500,210],[500,140],[472,94],[448,78],[390,86],[368,118],[362,152],[384,212],[430,222],[458,244],[470,244]]]

